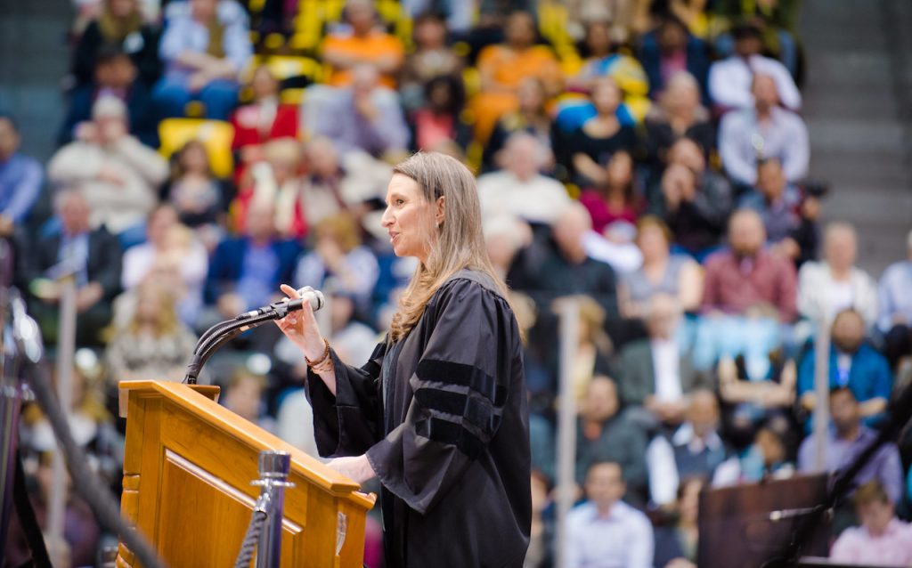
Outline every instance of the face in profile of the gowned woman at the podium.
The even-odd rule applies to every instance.
[[[396,256],[415,256],[422,263],[427,260],[437,239],[438,209],[442,219],[442,207],[424,199],[418,181],[401,173],[393,174],[387,189],[387,209],[380,224],[389,232],[389,243]]]

